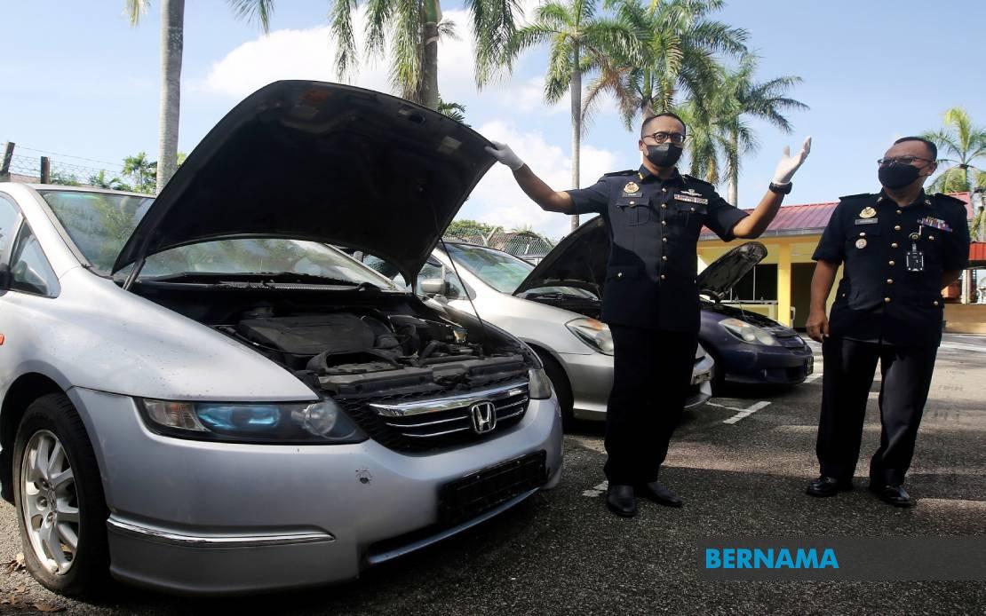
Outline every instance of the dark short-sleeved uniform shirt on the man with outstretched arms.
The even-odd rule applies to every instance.
[[[573,212],[599,213],[609,232],[601,319],[647,329],[697,331],[696,244],[702,226],[725,241],[746,213],[712,184],[676,170],[668,179],[647,171],[606,173],[569,190]]]

